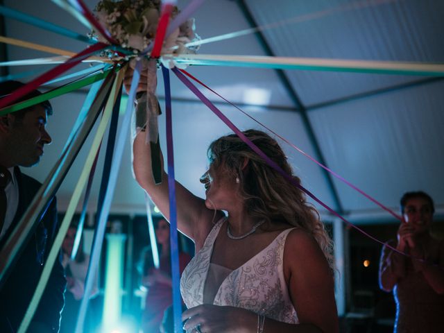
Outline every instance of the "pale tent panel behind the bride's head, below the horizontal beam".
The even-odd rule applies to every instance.
[[[174,80],[174,78],[172,78]],[[62,96],[52,101],[53,108],[60,110],[54,112],[49,118],[48,130],[54,138],[53,144],[46,147],[45,155],[37,167],[26,169],[26,173],[43,180],[46,172],[56,162],[58,154],[63,148],[69,135],[67,128],[74,125],[76,112],[85,99],[85,94],[76,93]],[[160,102],[162,104],[162,101]],[[264,130],[255,121],[231,106],[220,107],[229,119],[242,130],[257,128]],[[296,146],[302,148],[306,153],[313,155],[311,144],[300,121],[300,117],[295,112],[279,110],[264,110],[261,108],[244,108],[252,117],[264,123],[266,126],[288,139]],[[160,140],[162,150],[166,156],[165,119],[160,117]],[[62,126],[61,126],[62,125]],[[205,197],[205,189],[200,184],[199,178],[206,171],[207,147],[210,143],[221,135],[229,134],[230,130],[225,124],[201,103],[173,103],[173,135],[174,135],[174,159],[176,164],[176,179],[182,182],[194,194]],[[80,171],[85,161],[91,138],[85,142],[85,147],[80,151],[77,160],[69,171],[65,182],[62,183],[58,191],[58,200],[63,207],[69,200],[72,188],[76,185]],[[329,191],[325,185],[321,170],[307,157],[302,156],[289,145],[281,142],[284,151],[289,157],[289,162],[294,171],[302,179],[302,185],[307,187],[316,196],[324,200],[327,205],[333,205]],[[92,191],[91,205],[94,205],[99,196],[99,176],[102,173],[103,155],[105,146],[101,151],[98,162],[96,179]],[[131,169],[131,149],[130,140],[126,144],[123,153],[123,162],[117,180],[117,189],[114,194],[113,210],[125,212],[144,212],[144,195],[133,178]]]

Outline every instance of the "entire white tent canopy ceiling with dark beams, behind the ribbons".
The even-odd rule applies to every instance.
[[[3,3],[72,31],[88,32],[50,0]],[[96,1],[85,3],[94,8]],[[178,1],[178,6],[185,8],[187,3]],[[194,17],[196,32],[203,39],[259,26],[259,33],[203,44],[198,51],[202,54],[443,64],[443,12],[444,2],[438,0],[207,0]],[[13,19],[6,18],[5,26],[8,37],[69,51],[85,48],[81,42]],[[8,60],[21,60],[49,55],[7,46],[6,56]],[[9,72],[42,71],[46,67],[50,68],[9,67]],[[87,65],[78,67],[82,68]],[[443,214],[443,78],[216,66],[191,66],[187,70],[384,205],[397,210],[404,191],[421,189],[434,198],[438,213]],[[171,90],[176,178],[196,195],[204,196],[198,178],[207,167],[207,146],[230,130],[173,76]],[[48,130],[53,144],[46,148],[40,164],[26,169],[26,173],[44,180],[65,145],[86,92],[51,101],[55,112]],[[162,78],[157,94],[162,101]],[[239,128],[260,128],[219,97],[207,91],[205,94]],[[160,132],[166,150],[164,117],[160,119]],[[58,192],[62,207],[76,185],[91,141],[87,140]],[[326,176],[287,144],[282,145],[303,185],[327,205],[341,210],[352,221],[388,219],[375,204]],[[130,158],[128,139],[112,210],[138,214],[144,212],[144,195],[133,180]],[[98,187],[99,180],[95,180],[92,203]]]

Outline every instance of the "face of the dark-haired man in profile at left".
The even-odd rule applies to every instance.
[[[14,152],[15,165],[31,167],[40,161],[44,145],[50,144],[52,139],[46,132],[46,110],[42,105],[36,105],[17,118],[11,115],[10,136],[8,144]]]

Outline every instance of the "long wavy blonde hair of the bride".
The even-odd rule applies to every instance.
[[[275,139],[260,130],[246,130],[243,133],[300,185],[300,178],[293,175],[287,156]],[[307,231],[316,239],[328,264],[334,269],[333,242],[317,210],[307,203],[301,189],[268,166],[235,134],[216,139],[208,147],[207,155],[214,167],[223,164],[226,171],[232,173],[233,179],[239,178],[240,195],[250,216],[264,219],[266,223],[281,221]],[[244,167],[246,160],[248,163]]]

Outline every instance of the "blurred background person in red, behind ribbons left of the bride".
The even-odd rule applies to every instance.
[[[148,289],[145,309],[142,314],[142,330],[144,333],[160,332],[164,311],[173,302],[169,223],[165,219],[157,221],[155,237],[159,249],[160,267],[158,269],[154,267],[151,247],[146,248],[143,253],[142,286]],[[191,257],[181,250],[179,239],[179,269],[181,274],[190,260]],[[168,322],[170,320],[172,318],[167,319]],[[168,324],[165,323],[165,325]]]

